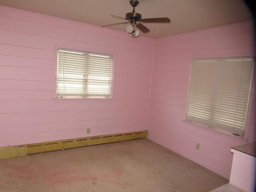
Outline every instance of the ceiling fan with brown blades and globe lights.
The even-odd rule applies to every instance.
[[[130,25],[128,25],[127,28],[126,28],[126,31],[128,33],[130,33],[131,36],[138,37],[140,32],[138,30],[136,30],[136,28],[138,28],[143,33],[147,33],[147,32],[150,31],[142,23],[170,23],[171,22],[171,20],[168,17],[142,19],[141,14],[135,12],[135,7],[139,4],[139,1],[138,0],[130,0],[130,4],[133,7],[133,10],[130,13],[126,13],[125,18],[111,15],[114,18],[128,20],[128,22],[121,22],[121,23],[103,25],[102,27],[108,27],[108,26],[113,26],[113,25],[118,25],[118,24],[130,23]],[[138,22],[141,22],[141,23],[138,23]]]

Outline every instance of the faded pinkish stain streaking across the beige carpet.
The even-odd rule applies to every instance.
[[[19,180],[37,180],[43,178],[48,181],[49,184],[70,184],[73,182],[103,182],[118,186],[122,189],[131,187],[132,184],[121,181],[124,172],[122,170],[113,171],[110,175],[86,175],[78,170],[57,170],[52,169],[51,166],[47,166],[43,162],[27,162],[26,165],[17,166],[10,165],[8,163],[2,164],[5,170],[12,176]],[[1,170],[0,166],[0,170]]]

